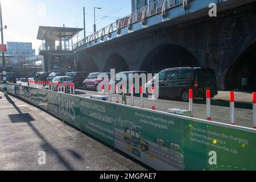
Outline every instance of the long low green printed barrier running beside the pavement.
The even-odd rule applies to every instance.
[[[8,92],[158,170],[256,170],[254,129],[16,84]]]

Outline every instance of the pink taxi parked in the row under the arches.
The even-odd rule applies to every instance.
[[[102,79],[98,79],[102,74],[108,75],[110,79],[110,73],[108,72],[101,72],[101,73],[90,73],[89,76],[84,80],[83,86],[84,89],[94,89],[97,90],[98,85],[103,81]]]

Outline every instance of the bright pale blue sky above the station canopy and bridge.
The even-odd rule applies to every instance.
[[[96,9],[97,30],[131,14],[131,0],[2,0],[4,42],[32,42],[37,55],[39,26],[83,28],[83,7],[86,35],[93,32],[94,7],[101,7]]]

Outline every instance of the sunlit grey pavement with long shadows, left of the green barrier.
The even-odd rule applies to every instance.
[[[46,165],[40,165],[44,152]],[[0,170],[145,169],[37,107],[0,92]]]

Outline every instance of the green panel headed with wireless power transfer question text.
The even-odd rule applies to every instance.
[[[117,118],[114,118],[113,108],[108,102],[81,98],[81,130],[114,146],[114,121]]]

